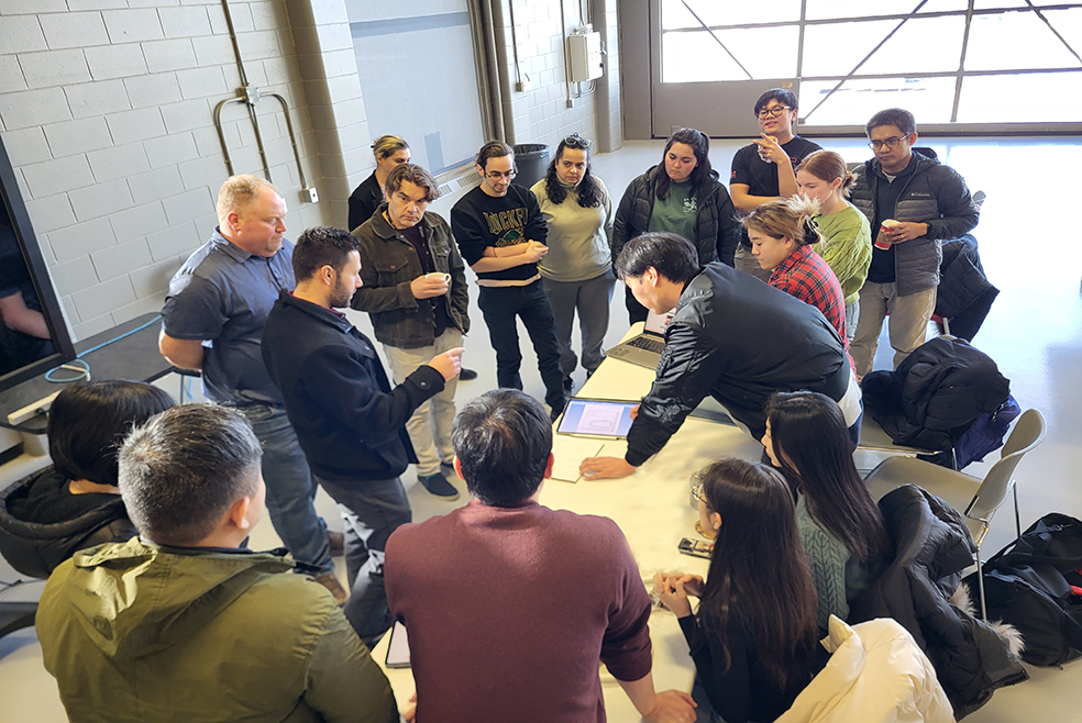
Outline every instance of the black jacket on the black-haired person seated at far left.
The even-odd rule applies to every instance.
[[[139,534],[119,494],[80,496],[87,502],[86,510],[64,522],[26,522],[14,512],[35,485],[55,488],[66,481],[49,467],[0,491],[0,554],[22,575],[47,578],[80,549]]]

